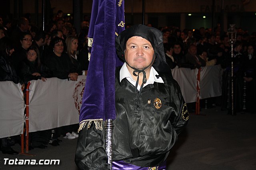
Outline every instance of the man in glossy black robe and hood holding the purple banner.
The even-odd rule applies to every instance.
[[[189,115],[165,61],[162,33],[134,25],[118,35],[116,51],[125,63],[116,69],[112,169],[164,170]],[[80,123],[75,161],[81,169],[107,169],[99,126]]]

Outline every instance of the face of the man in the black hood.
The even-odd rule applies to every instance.
[[[143,69],[152,62],[153,56],[154,49],[148,40],[134,36],[126,42],[124,57],[130,66]]]

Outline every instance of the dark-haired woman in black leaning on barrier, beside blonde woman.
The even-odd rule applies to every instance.
[[[64,53],[64,43],[64,39],[59,37],[52,39],[50,48],[53,51],[46,61],[46,66],[52,72],[53,77],[76,81],[78,73],[68,54]]]

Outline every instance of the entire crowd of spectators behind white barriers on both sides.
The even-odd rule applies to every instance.
[[[12,21],[0,18],[0,81],[13,81],[22,84],[30,80],[47,81],[57,77],[76,81],[78,75],[88,70],[88,27],[89,21],[81,22],[77,33],[72,20],[64,16],[61,10],[53,18],[46,29],[38,29],[31,25],[27,18],[20,18],[16,25]],[[128,26],[128,25],[127,25]],[[152,26],[148,24],[148,26]],[[251,35],[238,29],[234,58],[231,59],[231,47],[228,36],[220,34],[220,27],[214,31],[200,27],[199,29],[180,30],[177,27],[161,27],[163,33],[166,62],[170,68],[200,68],[202,66],[220,65],[225,71],[222,86],[222,109],[230,109],[227,104],[228,77],[230,77],[231,60],[234,63],[234,83],[236,111],[242,109],[242,85],[247,86],[246,100],[248,111],[254,112],[252,106],[256,98],[256,32]],[[213,32],[213,33],[212,33]],[[63,135],[74,139],[77,127],[35,132],[31,135],[30,148],[46,148],[46,143],[58,146]],[[3,153],[17,154],[11,149],[12,142],[2,139]]]

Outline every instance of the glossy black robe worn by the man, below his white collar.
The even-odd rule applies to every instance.
[[[148,84],[138,90],[116,70],[116,119],[113,121],[112,160],[136,166],[158,166],[166,160],[178,134],[188,123],[188,112],[178,83],[161,75],[164,83]],[[157,109],[154,100],[160,99]],[[155,104],[156,105],[156,104]],[[161,105],[161,106],[160,106]],[[104,129],[79,132],[76,164],[82,169],[106,169]]]

